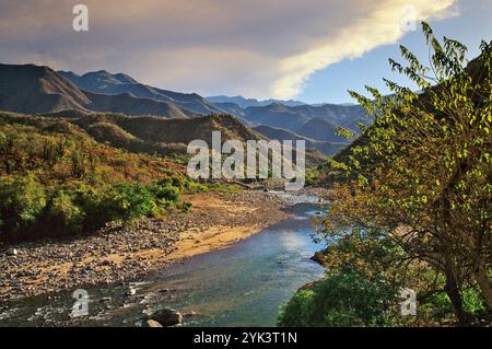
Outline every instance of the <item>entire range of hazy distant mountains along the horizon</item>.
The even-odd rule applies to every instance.
[[[359,105],[308,105],[297,101],[257,101],[242,96],[204,98],[196,93],[153,88],[124,73],[113,74],[99,70],[79,75],[35,65],[0,65],[0,110],[23,114],[58,113],[58,116],[61,115],[59,112],[65,110],[62,114],[69,115],[67,110],[77,110],[83,114],[121,113],[164,119],[190,119],[185,123],[187,127],[181,131],[179,127],[171,127],[174,124],[165,124],[169,128],[159,127],[161,132],[174,132],[176,135],[173,137],[179,139],[188,139],[189,135],[183,132],[191,129],[190,124],[200,124],[192,119],[210,114],[231,114],[247,129],[253,128],[255,131],[251,132],[256,137],[261,133],[269,139],[304,139],[308,148],[326,155],[331,155],[350,143],[350,140],[336,135],[340,127],[356,131],[358,123],[371,123]],[[151,123],[150,119],[139,120],[142,123],[141,129],[150,130],[148,124],[155,126],[155,121]],[[238,131],[237,125],[227,118],[213,119],[213,123],[207,125],[213,124],[221,128],[218,120],[227,120],[226,124],[234,129],[230,133]],[[115,125],[113,121],[110,124]],[[204,129],[211,131],[212,127]],[[107,125],[99,125],[97,130],[98,135],[124,135]],[[138,127],[130,133],[134,132],[138,132]],[[166,141],[171,139],[166,138]]]

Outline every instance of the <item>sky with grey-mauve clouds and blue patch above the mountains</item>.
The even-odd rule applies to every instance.
[[[75,4],[89,31],[72,27]],[[492,0],[0,0],[0,62],[125,72],[201,95],[350,103],[388,58],[427,57],[420,21],[478,54]]]

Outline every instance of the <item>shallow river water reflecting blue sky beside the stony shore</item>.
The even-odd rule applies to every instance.
[[[134,326],[143,311],[163,307],[192,313],[184,326],[274,326],[295,290],[324,274],[309,259],[321,248],[312,240],[314,202],[297,199],[286,209],[292,218],[141,282],[86,288],[89,316],[70,317],[67,292],[0,306],[0,326]]]

